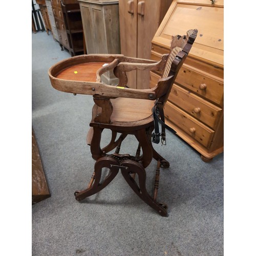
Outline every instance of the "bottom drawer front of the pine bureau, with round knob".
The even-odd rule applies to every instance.
[[[189,134],[200,144],[209,148],[212,137],[214,136],[213,130],[189,116],[169,101],[167,101],[164,106],[164,113],[166,118],[171,122],[175,123],[180,129]]]

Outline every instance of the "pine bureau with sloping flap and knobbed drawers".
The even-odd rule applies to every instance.
[[[223,9],[223,0],[174,0],[152,40],[151,59],[159,60],[174,35],[198,29],[164,111],[166,123],[204,161],[224,151]],[[151,72],[151,87],[160,76]]]

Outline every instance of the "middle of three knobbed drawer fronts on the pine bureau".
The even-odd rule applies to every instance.
[[[213,129],[216,128],[222,109],[214,104],[177,86],[177,84],[173,85],[168,99],[191,116],[194,116]]]

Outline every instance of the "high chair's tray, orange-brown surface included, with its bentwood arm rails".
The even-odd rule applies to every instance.
[[[122,54],[88,54],[61,60],[49,69],[48,74],[52,87],[62,92],[97,97],[155,99],[152,89],[134,90],[123,85],[111,86],[101,81],[101,75],[113,71],[120,62],[133,62],[135,66],[156,63],[154,60],[131,58]]]

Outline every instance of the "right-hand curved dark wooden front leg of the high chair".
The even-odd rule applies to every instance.
[[[159,204],[153,197],[151,197],[146,190],[146,172],[143,166],[133,160],[124,160],[120,164],[121,172],[126,180],[126,182],[130,185],[130,187],[134,190],[134,192],[148,205],[150,205],[153,209],[157,210],[161,216],[167,216],[166,209]],[[133,179],[131,174],[136,173],[139,179],[139,186],[136,181]]]

